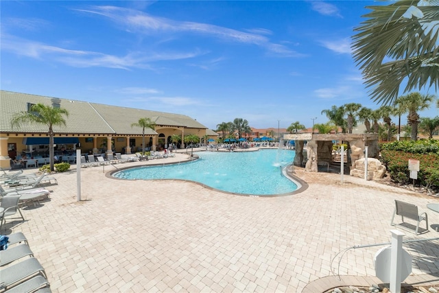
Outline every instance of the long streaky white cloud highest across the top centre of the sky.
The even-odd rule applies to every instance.
[[[92,14],[108,17],[121,25],[128,32],[141,34],[165,34],[165,33],[191,33],[213,38],[220,38],[235,43],[245,43],[264,47],[268,51],[286,56],[300,56],[285,45],[271,43],[265,35],[271,34],[270,30],[255,28],[242,32],[228,27],[220,27],[208,23],[195,23],[192,21],[174,21],[158,16],[152,16],[145,12],[115,6],[92,6],[88,9],[79,10]]]

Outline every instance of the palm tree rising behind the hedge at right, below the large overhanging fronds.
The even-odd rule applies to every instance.
[[[431,102],[434,100],[434,95],[421,95],[420,93],[409,93],[399,98],[402,113],[409,113],[407,115],[407,123],[412,126],[412,133],[410,139],[416,141],[418,139],[418,111],[429,108]]]

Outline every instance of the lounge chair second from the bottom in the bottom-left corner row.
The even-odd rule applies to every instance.
[[[47,279],[46,272],[43,266],[41,266],[41,263],[38,261],[38,259],[34,257],[25,259],[24,261],[20,261],[19,263],[15,263],[12,266],[8,266],[7,268],[2,268],[0,290],[10,290],[12,289],[12,287],[19,285],[25,282],[27,279],[30,279],[31,277],[34,277],[38,274],[43,275],[43,277]]]

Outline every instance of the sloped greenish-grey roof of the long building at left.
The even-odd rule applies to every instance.
[[[51,99],[54,98],[0,91],[0,132],[47,132],[47,126],[41,124],[22,124],[18,128],[12,127],[11,121],[16,113],[27,110],[27,103],[51,105]],[[66,126],[54,126],[58,133],[141,134],[141,128],[131,127],[131,124],[137,123],[141,118],[150,118],[157,126],[206,129],[206,126],[186,115],[69,99],[59,100],[60,107],[69,111],[69,117],[65,117]],[[145,134],[157,133],[148,128],[145,129]]]

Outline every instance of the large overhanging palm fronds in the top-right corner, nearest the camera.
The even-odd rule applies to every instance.
[[[372,12],[355,28],[353,57],[371,98],[392,104],[403,80],[407,81],[404,93],[423,86],[437,89],[438,1],[394,1],[367,8]]]

